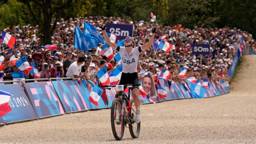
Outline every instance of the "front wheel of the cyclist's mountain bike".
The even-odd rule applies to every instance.
[[[115,98],[111,106],[111,128],[116,140],[121,140],[125,131],[124,114],[121,117],[122,100]]]

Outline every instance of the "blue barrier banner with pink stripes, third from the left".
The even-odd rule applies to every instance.
[[[67,113],[88,110],[75,81],[52,81],[52,83]]]

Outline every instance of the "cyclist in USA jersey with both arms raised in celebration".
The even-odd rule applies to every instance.
[[[115,51],[117,51],[122,59],[123,71],[118,85],[127,84],[139,84],[139,78],[137,73],[138,59],[141,52],[150,48],[154,42],[156,27],[152,27],[152,36],[148,43],[135,47],[135,41],[131,37],[126,37],[124,41],[124,47],[117,46],[115,43],[110,41],[108,34],[106,33],[106,25],[101,26],[104,39],[108,45],[110,45]],[[139,99],[139,88],[132,89],[132,96],[134,104],[136,106],[136,120],[135,123],[140,123],[140,99]]]

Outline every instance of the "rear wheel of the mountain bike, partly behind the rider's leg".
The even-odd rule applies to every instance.
[[[136,107],[134,104],[134,99],[130,100],[130,105],[132,106],[132,109],[136,111]],[[134,119],[136,118],[136,113],[130,110],[130,118],[131,118],[131,124],[129,124],[129,130],[132,138],[138,138],[140,134],[140,123],[136,124],[134,122]]]

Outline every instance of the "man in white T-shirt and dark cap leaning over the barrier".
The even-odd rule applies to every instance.
[[[81,73],[82,64],[84,63],[84,57],[79,57],[77,61],[73,62],[66,73],[67,77],[71,77],[73,80],[76,80],[77,78],[83,78],[86,74]]]

